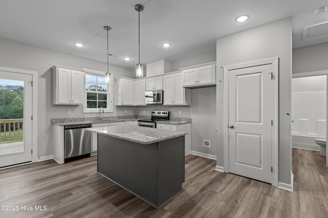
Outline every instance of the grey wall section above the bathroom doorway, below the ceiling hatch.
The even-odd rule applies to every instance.
[[[293,74],[328,69],[328,43],[293,49]]]

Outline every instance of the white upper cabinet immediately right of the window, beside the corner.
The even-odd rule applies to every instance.
[[[134,80],[119,78],[116,84],[116,106],[134,104]]]

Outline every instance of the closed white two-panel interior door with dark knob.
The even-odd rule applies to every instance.
[[[229,172],[272,183],[271,64],[229,70]],[[228,127],[227,127],[228,128]]]

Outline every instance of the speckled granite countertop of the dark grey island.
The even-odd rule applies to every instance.
[[[152,144],[159,141],[187,135],[187,132],[162,130],[137,126],[109,126],[86,128],[86,131],[108,135],[140,144]]]

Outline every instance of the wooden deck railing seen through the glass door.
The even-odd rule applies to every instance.
[[[0,119],[0,142],[23,139],[23,119]]]

